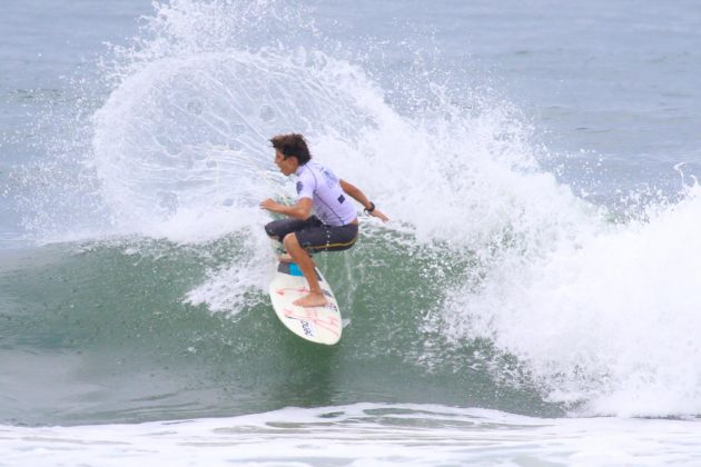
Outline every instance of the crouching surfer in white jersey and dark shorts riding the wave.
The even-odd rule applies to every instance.
[[[267,223],[265,230],[282,241],[287,250],[280,261],[296,262],[309,285],[309,294],[294,304],[322,307],[327,300],[307,252],[342,251],[355,245],[358,219],[347,196],[363,205],[369,216],[385,222],[389,219],[357,187],[337,178],[327,167],[312,161],[302,135],[278,135],[270,142],[275,149],[275,165],[285,176],[297,176],[297,202],[286,206],[270,198],[260,202],[263,209],[287,216]]]

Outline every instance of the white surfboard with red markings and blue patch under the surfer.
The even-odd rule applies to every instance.
[[[340,339],[343,322],[330,286],[315,268],[319,286],[328,299],[323,307],[299,307],[293,301],[309,292],[309,285],[294,262],[278,262],[270,281],[270,301],[279,320],[303,339],[333,346]]]

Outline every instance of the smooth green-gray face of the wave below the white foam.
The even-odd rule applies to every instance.
[[[534,388],[495,381],[484,344],[424,332],[451,264],[363,241],[320,255],[348,321],[339,345],[288,332],[264,290],[236,316],[187,292],[228,266],[237,239],[178,246],[121,239],[2,251],[3,404],[20,425],[239,415],[357,401],[435,403],[552,415]],[[273,256],[270,256],[270,268]],[[434,357],[426,360],[431,350]]]

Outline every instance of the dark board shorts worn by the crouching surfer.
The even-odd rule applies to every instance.
[[[355,245],[358,238],[358,226],[327,226],[316,216],[305,220],[279,219],[265,226],[265,231],[273,238],[283,241],[287,234],[294,232],[302,248],[312,251],[342,251]]]

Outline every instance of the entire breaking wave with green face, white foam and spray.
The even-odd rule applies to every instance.
[[[26,225],[60,242],[3,254],[1,419],[356,401],[699,413],[695,179],[615,222],[541,168],[509,102],[413,74],[391,98],[299,7],[155,8],[101,69],[109,92],[76,131],[72,176],[24,173]],[[393,219],[319,256],[348,321],[330,350],[267,302],[257,206],[294,192],[267,143],[287,131]]]

